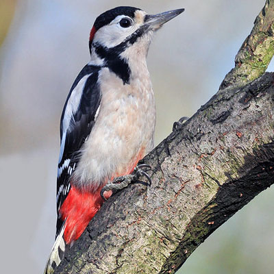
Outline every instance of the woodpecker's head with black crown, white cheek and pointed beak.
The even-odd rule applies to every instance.
[[[91,29],[90,53],[96,47],[121,53],[134,44],[140,44],[147,53],[153,32],[182,12],[184,9],[150,15],[132,7],[108,10],[97,17]]]

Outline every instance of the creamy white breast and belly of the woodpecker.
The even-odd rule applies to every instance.
[[[153,148],[155,101],[145,76],[123,85],[108,69],[101,71],[101,106],[73,173],[76,185],[96,190],[132,171]]]

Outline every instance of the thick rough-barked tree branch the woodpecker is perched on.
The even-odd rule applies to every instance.
[[[151,186],[110,197],[55,273],[175,273],[273,184],[273,21],[267,0],[219,92],[143,160]]]

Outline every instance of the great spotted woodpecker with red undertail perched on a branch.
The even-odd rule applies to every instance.
[[[155,102],[147,52],[153,33],[183,11],[149,15],[118,7],[97,17],[90,32],[91,60],[62,112],[56,238],[45,273],[53,273],[95,216],[104,201],[103,186],[132,173],[153,148]]]

